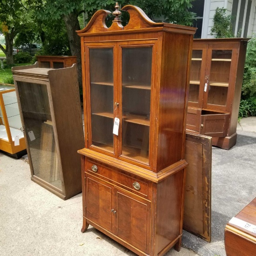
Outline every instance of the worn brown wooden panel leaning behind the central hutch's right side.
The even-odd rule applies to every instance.
[[[211,241],[211,138],[186,133],[183,229]]]

